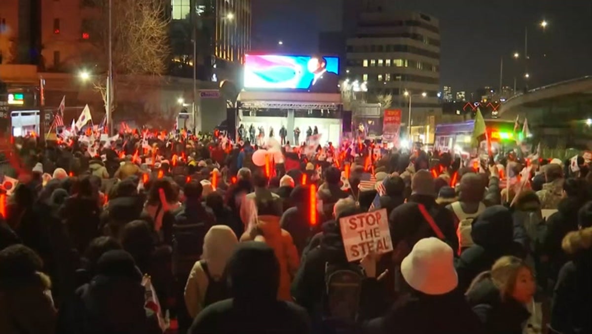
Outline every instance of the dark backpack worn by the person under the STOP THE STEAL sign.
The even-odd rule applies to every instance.
[[[333,329],[355,325],[364,277],[357,264],[325,263],[324,323],[331,324]]]

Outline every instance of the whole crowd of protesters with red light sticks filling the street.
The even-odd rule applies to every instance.
[[[512,157],[361,143],[269,171],[216,136],[100,145],[4,152],[18,184],[1,203],[0,333],[592,332],[583,161],[533,160],[520,179]],[[348,262],[339,219],[377,208],[394,251]]]

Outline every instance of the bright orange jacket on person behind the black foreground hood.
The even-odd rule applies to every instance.
[[[277,216],[258,216],[253,228],[244,232],[240,241],[263,241],[274,249],[279,262],[278,300],[292,300],[290,284],[300,266],[298,250],[292,236],[279,226]]]

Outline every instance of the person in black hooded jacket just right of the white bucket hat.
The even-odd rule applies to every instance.
[[[481,272],[491,268],[504,255],[525,258],[526,252],[514,241],[514,223],[510,210],[501,205],[488,207],[472,223],[474,245],[456,260],[459,287],[466,290]]]

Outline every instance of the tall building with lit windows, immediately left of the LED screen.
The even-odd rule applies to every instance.
[[[198,79],[215,81],[237,72],[250,50],[251,0],[169,1],[173,60],[191,68],[195,34]]]

